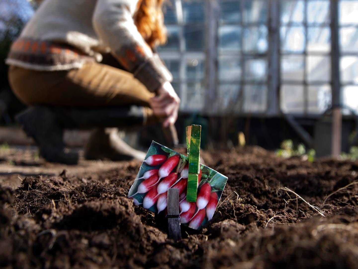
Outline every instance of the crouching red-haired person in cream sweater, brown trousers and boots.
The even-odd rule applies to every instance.
[[[107,127],[176,121],[180,100],[155,53],[166,41],[162,2],[45,0],[39,7],[6,62],[13,92],[29,105],[17,120],[45,159],[77,163],[65,150],[65,128],[95,128],[87,159],[143,159]]]

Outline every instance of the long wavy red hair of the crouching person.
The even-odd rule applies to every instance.
[[[166,42],[163,3],[165,0],[139,0],[134,22],[151,48]]]

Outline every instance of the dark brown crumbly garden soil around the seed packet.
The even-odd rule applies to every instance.
[[[179,242],[162,216],[126,198],[139,162],[0,187],[0,266],[357,268],[358,162],[282,159],[258,147],[202,156],[229,179],[213,220]]]

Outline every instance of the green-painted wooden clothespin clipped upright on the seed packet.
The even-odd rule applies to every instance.
[[[200,169],[200,136],[201,126],[187,126],[187,152],[189,157],[189,174],[187,187],[187,201],[197,201],[198,175]]]

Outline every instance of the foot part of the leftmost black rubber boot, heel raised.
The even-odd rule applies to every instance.
[[[30,107],[16,116],[26,134],[34,138],[40,154],[49,162],[77,164],[78,154],[66,149],[63,129],[47,107]]]

